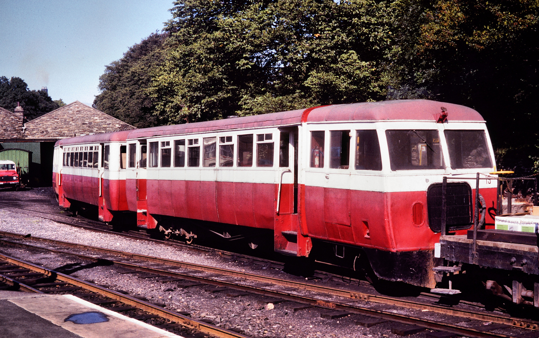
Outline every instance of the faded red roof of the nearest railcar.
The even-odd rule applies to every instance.
[[[447,120],[449,122],[484,121],[482,116],[474,109],[461,105],[431,100],[390,100],[313,107],[288,112],[243,116],[233,119],[135,129],[130,132],[128,139],[183,133],[202,133],[227,129],[299,125],[301,122],[384,120],[436,121],[441,113],[441,107],[447,109]]]

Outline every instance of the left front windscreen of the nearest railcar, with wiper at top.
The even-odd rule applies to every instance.
[[[391,170],[443,169],[438,130],[386,130]]]

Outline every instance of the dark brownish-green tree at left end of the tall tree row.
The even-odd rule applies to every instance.
[[[155,104],[146,92],[153,68],[161,62],[166,37],[165,33],[153,33],[106,66],[99,78],[101,93],[95,96],[94,108],[137,128],[166,122],[153,114]]]

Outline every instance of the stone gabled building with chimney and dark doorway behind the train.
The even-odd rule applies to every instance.
[[[0,157],[26,152],[27,168],[22,168],[24,179],[34,187],[48,187],[52,183],[52,157],[54,143],[66,137],[117,132],[134,129],[97,109],[72,102],[32,121],[23,121],[22,107],[12,113],[0,108]],[[23,177],[23,175],[21,175]]]

